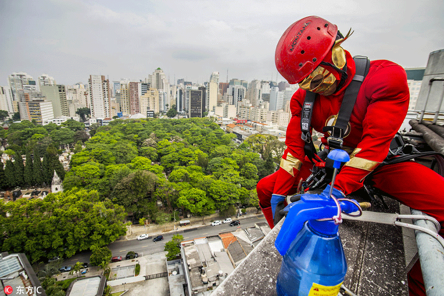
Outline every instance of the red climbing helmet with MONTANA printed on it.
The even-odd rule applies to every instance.
[[[279,73],[290,84],[300,82],[330,52],[336,33],[336,25],[317,16],[308,16],[292,24],[276,46],[274,61]]]

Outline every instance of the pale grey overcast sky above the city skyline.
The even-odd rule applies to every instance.
[[[213,71],[278,80],[274,50],[296,20],[318,15],[353,35],[352,55],[425,67],[444,48],[443,0],[0,0],[0,85],[13,72],[58,84],[144,79],[154,69],[203,83]],[[276,79],[277,77],[277,79]]]

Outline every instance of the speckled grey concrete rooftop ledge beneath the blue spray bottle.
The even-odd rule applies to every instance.
[[[388,209],[382,204],[373,204],[371,210],[399,213],[396,200],[385,197],[384,200]],[[274,247],[274,241],[282,223],[283,220],[211,296],[276,296],[276,278],[282,256]],[[408,296],[401,227],[343,220],[339,235],[348,265],[343,286],[359,296]]]

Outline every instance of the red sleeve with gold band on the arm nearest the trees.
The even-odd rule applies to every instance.
[[[294,163],[295,161],[303,162],[305,154],[304,154],[304,141],[301,139],[301,131],[300,131],[300,114],[302,109],[302,103],[305,98],[305,91],[298,89],[294,94],[290,101],[290,109],[292,112],[292,118],[290,119],[290,123],[287,126],[286,132],[286,140],[285,144],[287,148],[284,151],[284,155],[282,156],[282,162]],[[276,178],[276,183],[274,185],[274,194],[287,195],[290,189],[293,187],[296,182],[298,169],[293,168],[293,175],[287,170],[283,168],[281,162],[281,166],[278,170],[278,176]],[[285,165],[284,165],[285,166]],[[286,166],[288,167],[288,166]],[[291,170],[291,169],[290,169]]]

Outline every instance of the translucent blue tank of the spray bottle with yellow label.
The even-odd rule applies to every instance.
[[[332,221],[305,222],[284,255],[278,296],[337,296],[347,272],[337,229]]]

